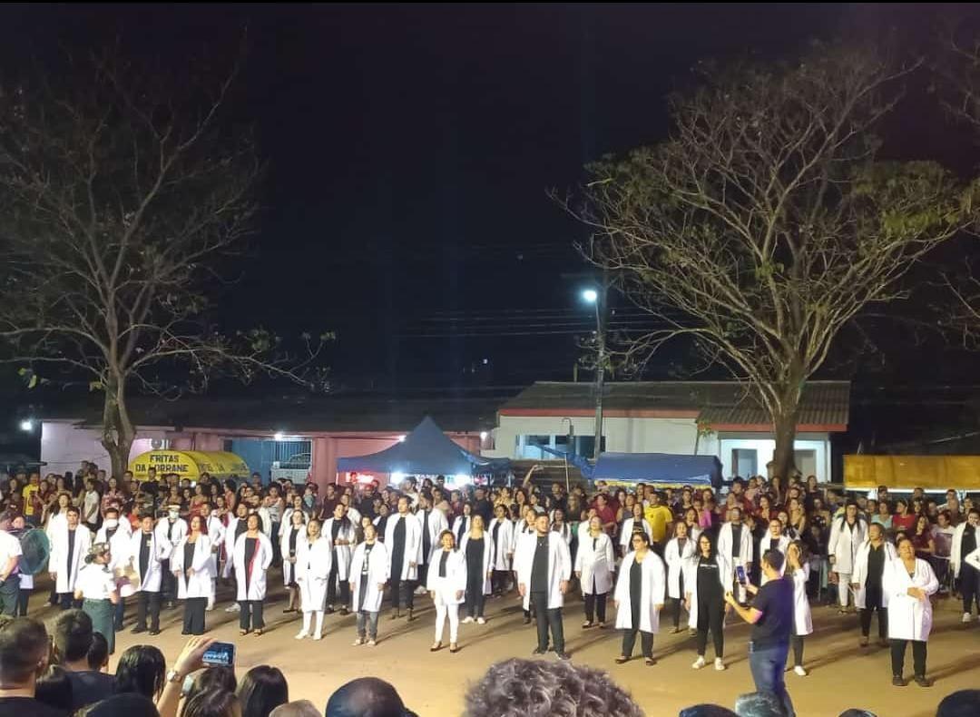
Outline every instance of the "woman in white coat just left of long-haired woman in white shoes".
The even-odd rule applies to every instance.
[[[660,632],[666,598],[666,570],[642,529],[633,532],[632,543],[633,550],[622,559],[615,585],[615,626],[623,631],[622,652],[615,661],[622,664],[633,656],[639,631],[643,660],[649,667],[654,664],[654,636]]]

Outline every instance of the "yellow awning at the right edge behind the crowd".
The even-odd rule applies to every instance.
[[[980,456],[846,455],[844,486],[976,490],[980,488]]]

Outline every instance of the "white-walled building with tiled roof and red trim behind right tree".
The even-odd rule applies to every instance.
[[[831,479],[830,436],[847,431],[851,384],[809,382],[795,442],[797,468]],[[553,460],[542,450],[570,449],[591,457],[595,446],[594,384],[540,382],[498,411],[497,458]],[[768,416],[736,382],[606,384],[603,450],[714,455],[727,477],[766,473],[775,440]]]

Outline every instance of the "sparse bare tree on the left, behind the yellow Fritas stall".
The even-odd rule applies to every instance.
[[[115,475],[136,432],[132,389],[200,389],[219,370],[306,381],[319,352],[305,336],[298,362],[269,332],[208,320],[262,174],[251,132],[222,117],[237,67],[217,81],[209,68],[137,69],[110,52],[0,88],[2,358],[32,382],[102,391]]]

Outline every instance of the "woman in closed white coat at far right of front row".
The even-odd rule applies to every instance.
[[[906,648],[912,643],[915,684],[929,687],[926,677],[926,642],[932,631],[930,595],[939,589],[932,566],[915,557],[908,538],[898,545],[899,557],[885,566],[884,589],[888,593],[888,638],[892,642],[892,685],[905,687]]]

